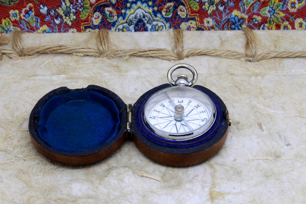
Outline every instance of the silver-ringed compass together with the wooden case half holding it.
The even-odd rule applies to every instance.
[[[188,69],[192,80],[179,75]],[[147,91],[133,105],[132,132],[137,147],[162,164],[183,166],[200,163],[223,146],[231,122],[224,102],[211,90],[194,85],[196,70],[187,64],[171,67],[170,84]]]

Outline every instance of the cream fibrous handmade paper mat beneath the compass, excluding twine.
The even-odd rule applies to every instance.
[[[256,53],[306,51],[305,32],[256,31]],[[12,34],[7,35],[10,39]],[[95,47],[96,33],[23,34],[22,46]],[[112,33],[116,49],[173,49],[170,32]],[[11,42],[10,42],[11,43]],[[11,44],[4,46],[12,47]],[[244,32],[184,32],[184,49],[245,52]],[[188,167],[160,165],[133,141],[90,165],[45,158],[28,132],[30,113],[49,91],[90,84],[134,104],[168,83],[186,63],[197,85],[226,104],[232,126],[222,149]],[[0,203],[304,203],[306,197],[306,58],[257,62],[207,55],[170,61],[155,57],[35,54],[0,61]],[[175,72],[191,76],[187,70]],[[150,178],[151,177],[151,178]]]

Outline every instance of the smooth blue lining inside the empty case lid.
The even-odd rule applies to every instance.
[[[91,90],[52,96],[39,111],[37,133],[50,147],[78,152],[106,144],[118,132],[119,109]]]

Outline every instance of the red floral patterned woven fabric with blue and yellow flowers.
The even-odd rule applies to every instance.
[[[0,33],[305,30],[305,0],[0,0]]]

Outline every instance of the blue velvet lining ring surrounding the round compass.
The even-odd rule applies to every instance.
[[[200,89],[198,89],[200,90]],[[200,90],[202,91],[202,90]],[[144,135],[144,137],[146,139],[148,139],[149,141],[151,141],[152,143],[155,143],[159,146],[162,147],[170,147],[170,148],[178,148],[178,149],[185,149],[185,148],[191,148],[191,147],[196,147],[199,146],[203,143],[206,143],[207,141],[209,141],[211,138],[213,138],[217,132],[220,130],[221,126],[222,126],[222,122],[223,122],[223,111],[222,108],[220,106],[220,104],[217,102],[217,100],[210,94],[204,92],[205,94],[207,94],[209,96],[209,98],[211,98],[211,100],[214,102],[215,106],[216,106],[216,120],[215,123],[213,124],[213,126],[209,129],[209,131],[205,132],[203,135],[200,135],[196,138],[193,139],[188,139],[188,140],[170,140],[170,139],[166,139],[163,138],[159,135],[156,135],[154,133],[152,133],[144,124],[143,121],[143,109],[144,109],[144,105],[147,102],[147,100],[150,98],[151,95],[153,95],[154,93],[152,93],[151,95],[147,96],[142,103],[140,103],[140,105],[137,108],[137,112],[136,112],[136,124],[137,124],[137,128],[140,131],[140,133],[142,135]]]

